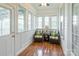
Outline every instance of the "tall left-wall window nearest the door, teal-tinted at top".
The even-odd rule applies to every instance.
[[[20,8],[18,10],[18,32],[24,31],[24,16],[25,16],[25,11]]]

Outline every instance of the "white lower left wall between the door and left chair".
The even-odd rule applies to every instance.
[[[34,31],[28,31],[16,34],[16,41],[15,41],[15,55],[21,53],[25,48],[27,48],[33,42],[33,34]],[[18,45],[19,44],[19,45]]]

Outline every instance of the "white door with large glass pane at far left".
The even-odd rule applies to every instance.
[[[14,16],[9,5],[0,4],[0,56],[14,55]]]

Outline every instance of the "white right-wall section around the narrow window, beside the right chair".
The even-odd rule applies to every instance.
[[[63,22],[62,22],[62,26],[63,26],[63,30],[61,27],[61,15],[63,15]],[[59,32],[61,35],[61,46],[63,49],[64,54],[66,55],[66,49],[67,49],[67,44],[66,44],[66,39],[65,39],[65,5],[63,5],[61,8],[59,8]]]

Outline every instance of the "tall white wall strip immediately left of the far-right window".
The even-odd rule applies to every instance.
[[[71,55],[72,51],[72,4],[64,4],[64,22],[61,45],[65,55]]]

